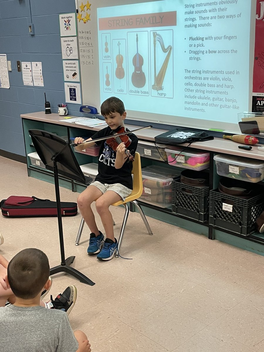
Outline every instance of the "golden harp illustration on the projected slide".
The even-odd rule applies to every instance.
[[[169,45],[167,48],[165,48],[164,43],[163,43],[163,39],[162,36],[157,33],[157,32],[153,32],[153,40],[154,40],[154,84],[152,84],[152,89],[154,90],[163,90],[163,80],[166,74],[166,70],[168,67],[168,63],[169,63],[169,59],[170,59],[170,54],[171,54],[171,50],[172,50],[172,46]],[[157,41],[159,42],[159,44],[161,44],[161,49],[163,52],[168,52],[167,56],[165,57],[165,60],[162,64],[161,69],[159,70],[159,73],[156,74],[156,55],[157,55]]]

